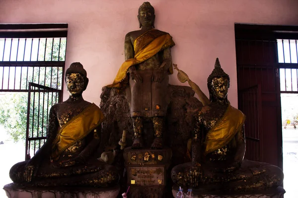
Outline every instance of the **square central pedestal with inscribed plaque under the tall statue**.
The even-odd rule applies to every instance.
[[[166,171],[170,165],[172,150],[125,148],[128,197],[161,198],[166,185]]]

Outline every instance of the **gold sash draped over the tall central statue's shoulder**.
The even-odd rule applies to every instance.
[[[131,66],[139,64],[149,59],[162,49],[169,48],[174,45],[175,43],[173,42],[172,37],[168,33],[155,29],[151,29],[142,34],[141,36],[137,37],[137,39],[134,42],[134,58],[130,58],[122,64],[122,66],[118,70],[113,84],[108,85],[107,87],[120,88],[120,83],[125,79],[128,69]],[[169,68],[169,73],[173,73],[172,65]]]

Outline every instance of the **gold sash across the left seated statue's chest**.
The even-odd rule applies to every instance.
[[[59,157],[64,150],[86,137],[104,118],[96,104],[89,104],[81,113],[61,127],[53,142],[52,158]]]

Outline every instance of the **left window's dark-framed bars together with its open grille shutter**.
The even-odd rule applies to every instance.
[[[0,92],[28,92],[26,160],[44,144],[49,110],[62,100],[67,27],[0,24]]]

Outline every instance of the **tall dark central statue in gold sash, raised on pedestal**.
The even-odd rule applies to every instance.
[[[170,47],[172,37],[154,29],[154,8],[144,2],[139,8],[141,30],[125,36],[125,62],[109,87],[127,87],[127,100],[133,118],[135,140],[132,148],[143,147],[143,123],[151,118],[155,139],[151,148],[162,148],[164,116],[168,105],[168,74],[173,72]],[[129,74],[129,75],[127,75]]]

